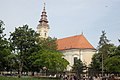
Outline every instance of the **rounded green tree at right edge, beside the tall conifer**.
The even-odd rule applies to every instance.
[[[120,72],[120,46],[114,49],[113,52],[105,60],[105,69],[107,72]]]

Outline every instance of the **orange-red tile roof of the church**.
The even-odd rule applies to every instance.
[[[95,49],[83,34],[57,40],[58,50]]]

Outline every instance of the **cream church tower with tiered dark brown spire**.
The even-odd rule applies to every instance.
[[[37,32],[40,35],[39,37],[48,38],[49,29],[50,28],[49,28],[49,24],[48,24],[48,20],[47,20],[47,14],[45,11],[45,3],[44,3],[41,19],[40,19],[39,24],[37,26]]]

